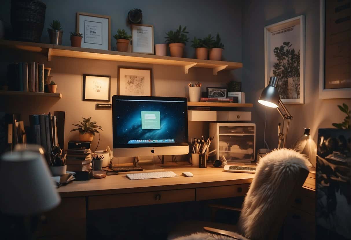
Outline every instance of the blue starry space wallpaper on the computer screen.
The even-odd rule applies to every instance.
[[[117,144],[127,144],[132,139],[174,139],[187,142],[184,130],[184,104],[175,102],[120,101],[116,109],[115,126]],[[160,129],[142,129],[141,112],[159,111]],[[187,123],[186,123],[187,124]]]

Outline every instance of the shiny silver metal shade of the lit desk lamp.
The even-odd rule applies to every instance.
[[[268,86],[263,89],[258,102],[267,107],[278,107],[279,91],[277,89],[278,78],[271,77]]]

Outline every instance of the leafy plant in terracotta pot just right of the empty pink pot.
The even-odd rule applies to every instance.
[[[169,31],[166,33],[167,37],[166,38],[166,43],[170,47],[170,52],[172,57],[183,57],[183,50],[185,47],[185,44],[189,40],[189,38],[186,36],[187,31],[186,27],[181,29],[181,26],[176,31]]]

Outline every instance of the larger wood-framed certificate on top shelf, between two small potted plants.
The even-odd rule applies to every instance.
[[[111,17],[77,13],[77,33],[83,34],[82,48],[111,50]]]

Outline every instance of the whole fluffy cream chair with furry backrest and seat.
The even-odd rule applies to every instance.
[[[168,239],[277,239],[287,212],[309,174],[306,163],[307,158],[292,149],[272,151],[260,160],[242,209],[224,207],[241,210],[237,226],[210,222],[186,223],[169,234]],[[183,229],[191,229],[193,234],[185,231],[189,235],[178,237],[182,236]]]

